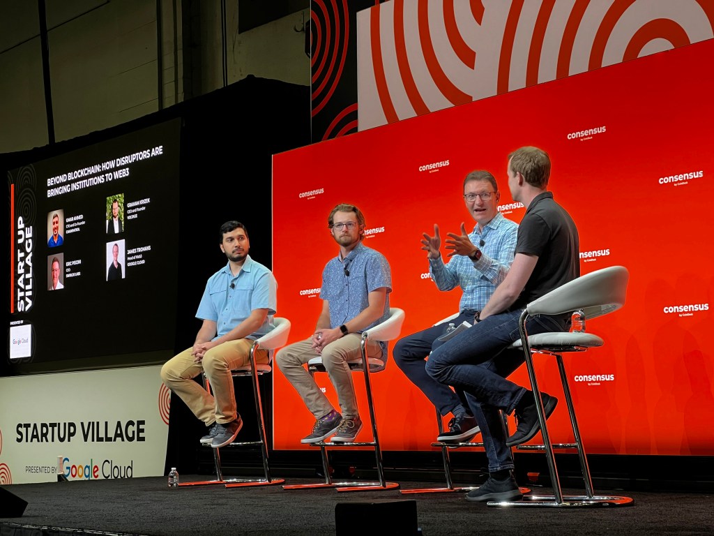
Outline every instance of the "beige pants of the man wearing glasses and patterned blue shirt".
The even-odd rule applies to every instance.
[[[357,397],[348,362],[362,359],[361,338],[362,335],[359,333],[348,333],[328,344],[322,351],[322,362],[335,387],[342,417],[345,419],[359,417]],[[275,359],[288,382],[295,387],[308,410],[313,414],[315,420],[318,420],[331,412],[333,407],[304,366],[310,359],[320,355],[311,348],[311,345],[312,339],[295,342],[279,350]],[[368,341],[367,354],[370,357],[381,357],[382,348],[379,343]]]

